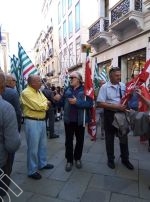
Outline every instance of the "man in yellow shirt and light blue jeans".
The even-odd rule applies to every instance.
[[[27,169],[28,176],[41,179],[38,170],[52,169],[47,164],[46,110],[51,103],[39,90],[41,78],[38,75],[28,77],[28,86],[21,93],[21,106],[25,118],[25,133],[27,140]]]

